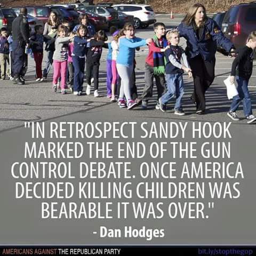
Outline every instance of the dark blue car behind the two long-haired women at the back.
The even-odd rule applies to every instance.
[[[51,11],[57,13],[61,20],[67,20],[70,24],[71,29],[74,28],[78,23],[79,14],[74,9],[74,7],[68,6],[59,6],[59,5],[51,5],[49,6]]]

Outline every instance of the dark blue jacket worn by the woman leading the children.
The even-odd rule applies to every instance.
[[[221,46],[227,52],[230,52],[234,45],[226,38],[217,23],[208,18],[204,24],[204,30],[201,38],[197,38],[193,25],[187,26],[181,22],[178,26],[180,37],[187,40],[186,54],[188,59],[201,54],[204,60],[211,61],[215,58],[217,45]]]

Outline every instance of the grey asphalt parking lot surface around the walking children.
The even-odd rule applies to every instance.
[[[167,29],[177,26],[182,20],[182,15],[175,14],[174,19],[170,19],[169,14],[157,14],[157,21],[164,22]],[[147,29],[140,29],[137,31],[137,36],[142,38],[148,38],[153,36],[153,26],[149,26]],[[110,37],[109,37],[110,38]],[[181,39],[181,45],[185,47],[185,41]],[[144,79],[144,66],[145,59],[148,53],[147,47],[142,47],[139,52],[136,53],[136,84],[138,87],[139,95],[142,93],[143,86],[145,84]],[[198,116],[195,114],[195,107],[189,100],[191,91],[193,90],[193,81],[188,79],[185,75],[185,95],[183,97],[183,108],[186,115],[183,117],[177,117],[173,115],[173,102],[169,103],[169,110],[166,113],[162,113],[159,110],[155,110],[155,98],[150,101],[148,110],[142,110],[140,107],[136,107],[134,110],[127,111],[126,109],[120,109],[116,103],[110,103],[106,98],[106,54],[107,50],[104,49],[101,57],[100,65],[100,87],[99,93],[101,97],[94,98],[93,95],[82,97],[76,97],[75,95],[68,93],[61,95],[60,93],[53,93],[52,86],[52,72],[47,81],[42,83],[35,82],[35,63],[34,60],[29,57],[29,67],[26,74],[25,85],[14,85],[11,81],[1,81],[1,95],[0,95],[0,129],[5,131],[6,129],[13,129],[23,125],[24,121],[45,121],[47,119],[55,119],[61,116],[73,119],[74,114],[79,113],[81,118],[86,119],[86,113],[88,111],[95,113],[95,118],[98,120],[108,116],[112,117],[125,117],[134,119],[140,117],[147,118],[168,118],[168,119],[185,119],[185,120],[202,120],[202,121],[229,121],[226,112],[229,109],[230,101],[226,97],[226,88],[223,84],[223,80],[229,75],[232,58],[228,58],[220,53],[217,53],[217,65],[215,66],[215,79],[210,87],[210,90],[206,93],[207,100],[207,113],[204,116]],[[43,61],[43,67],[45,61]],[[254,65],[255,66],[255,65]],[[255,108],[255,85],[256,85],[256,71],[254,69],[252,78],[250,79],[250,91],[252,95],[253,108]],[[84,83],[85,87],[85,83]],[[238,115],[243,117],[242,110],[238,111]],[[237,125],[246,125],[245,120],[238,122]],[[254,126],[254,125],[252,125]]]

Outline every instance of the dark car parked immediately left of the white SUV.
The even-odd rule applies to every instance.
[[[88,12],[97,13],[105,17],[108,21],[109,28],[115,26],[119,27],[118,12],[111,6],[101,5],[84,5],[80,6],[78,10],[85,10]]]

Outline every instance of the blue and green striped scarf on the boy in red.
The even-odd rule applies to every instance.
[[[165,37],[163,37],[162,39],[163,39],[163,48],[165,48],[168,45],[168,42]],[[156,35],[154,35],[153,37],[153,42],[157,47],[161,48]],[[153,59],[154,59],[154,74],[155,75],[164,74],[165,64],[166,64],[164,52],[153,52]]]

